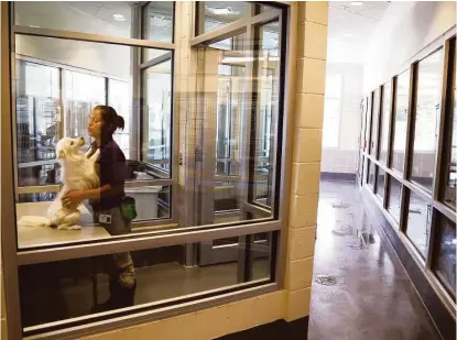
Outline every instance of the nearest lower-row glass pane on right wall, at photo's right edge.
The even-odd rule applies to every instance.
[[[437,219],[436,257],[433,268],[450,295],[456,298],[456,223],[443,215]]]

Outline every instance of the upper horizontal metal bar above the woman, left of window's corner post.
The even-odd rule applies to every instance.
[[[132,12],[134,12],[134,10],[132,10]],[[134,14],[132,13],[132,15]],[[133,21],[133,23],[135,21]],[[156,50],[175,50],[176,48],[176,45],[173,43],[152,42],[149,40],[141,40],[141,39],[110,36],[110,35],[102,35],[102,34],[61,31],[61,30],[31,28],[31,26],[22,26],[22,25],[14,25],[13,33],[23,34],[23,35],[32,35],[32,36],[58,37],[58,39],[76,40],[76,41],[91,42],[91,43],[106,43],[106,44],[113,44],[113,45],[146,47],[146,48],[156,48]],[[138,36],[138,34],[135,35]]]

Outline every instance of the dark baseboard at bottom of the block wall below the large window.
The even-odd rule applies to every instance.
[[[307,340],[308,320],[306,316],[287,322],[283,319],[250,328],[240,332],[217,338],[218,340]]]

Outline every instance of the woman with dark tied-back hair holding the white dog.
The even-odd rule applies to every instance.
[[[97,106],[89,118],[88,132],[94,138],[89,155],[97,149],[100,155],[97,161],[97,173],[100,187],[90,190],[72,190],[64,198],[65,204],[80,204],[89,199],[93,207],[94,220],[104,226],[112,235],[129,233],[130,218],[122,215],[121,205],[126,197],[124,184],[127,177],[126,156],[112,139],[117,129],[123,130],[124,121],[116,110],[108,106]],[[116,309],[133,305],[137,288],[135,273],[130,253],[112,255],[109,289],[110,298],[100,310]]]

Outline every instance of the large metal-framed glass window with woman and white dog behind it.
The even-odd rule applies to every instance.
[[[18,245],[8,256],[20,259],[20,304],[9,316],[21,319],[14,333],[93,331],[101,319],[255,293],[275,282],[285,213],[279,198],[290,194],[280,185],[282,135],[290,133],[280,25],[286,9],[199,3],[205,15],[195,18],[197,26],[226,25],[237,20],[230,15],[246,18],[244,26],[189,46],[181,24],[173,39],[175,6],[171,2],[30,3],[11,11],[18,152],[2,147],[18,158],[4,173],[17,179],[9,201],[18,223],[8,230]],[[105,134],[91,138],[91,127],[102,129],[110,114],[94,112],[99,105],[123,117],[113,142],[124,157]],[[84,146],[83,139],[69,144],[76,152],[93,142],[113,149],[94,166],[100,184],[90,190],[104,191],[101,182],[111,179],[106,196],[91,191],[64,207],[61,195],[79,189],[64,182],[84,164],[62,161],[56,143],[64,136],[84,136]],[[72,221],[59,224],[55,211]]]

